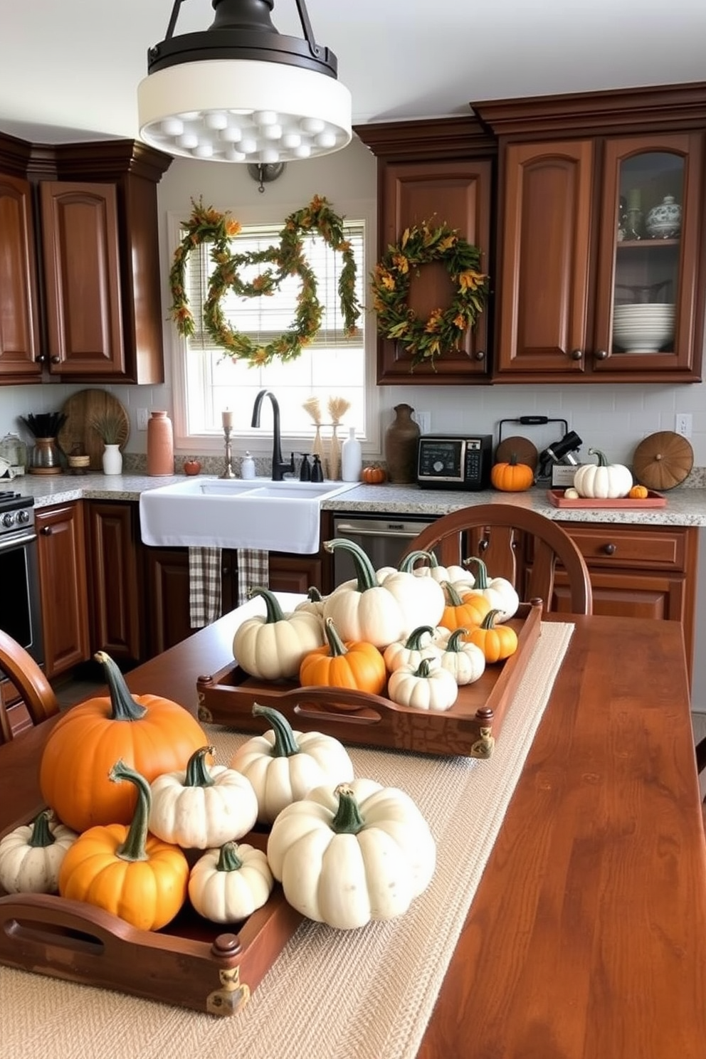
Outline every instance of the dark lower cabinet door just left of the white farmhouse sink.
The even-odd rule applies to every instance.
[[[85,501],[91,654],[116,662],[143,657],[141,551],[135,504]]]

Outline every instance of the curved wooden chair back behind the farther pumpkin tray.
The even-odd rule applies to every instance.
[[[593,595],[589,569],[572,538],[544,515],[514,504],[477,504],[445,515],[422,530],[404,554],[434,551],[447,567],[479,556],[491,577],[506,577],[523,600],[555,603],[555,567],[568,577],[568,606],[574,614],[591,614]],[[522,584],[518,584],[518,579]],[[564,608],[562,608],[564,609]]]

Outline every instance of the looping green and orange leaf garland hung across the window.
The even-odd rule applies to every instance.
[[[330,209],[327,199],[315,195],[311,202],[290,214],[279,232],[279,246],[251,253],[232,253],[232,240],[241,231],[237,220],[219,213],[203,202],[192,199],[192,216],[184,225],[186,233],[174,254],[169,271],[173,304],[170,315],[177,329],[187,337],[196,333],[194,313],[188,305],[185,286],[188,255],[202,243],[213,244],[211,259],[215,269],[203,304],[203,324],[214,341],[234,360],[248,360],[252,365],[269,364],[275,357],[283,361],[298,357],[304,346],[315,336],[324,312],[316,295],[316,277],[304,255],[304,235],[318,232],[331,250],[340,251],[343,269],[339,277],[339,299],[347,336],[356,331],[360,305],[356,295],[356,262],[350,243],[345,238],[343,219]],[[240,269],[247,265],[269,265],[247,283]],[[302,287],[296,299],[292,326],[267,345],[254,341],[232,327],[222,311],[221,302],[229,290],[243,298],[272,295],[288,275],[297,275]]]

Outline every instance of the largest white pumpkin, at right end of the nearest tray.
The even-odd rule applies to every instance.
[[[436,845],[409,794],[356,779],[318,787],[283,810],[267,857],[298,912],[355,930],[406,912],[432,879]]]

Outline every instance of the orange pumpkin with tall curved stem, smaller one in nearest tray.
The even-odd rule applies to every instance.
[[[188,861],[179,846],[147,832],[149,784],[123,761],[110,770],[115,786],[128,779],[137,796],[129,827],[110,824],[79,834],[59,869],[59,894],[120,916],[139,930],[159,930],[186,900]],[[99,880],[98,880],[99,876]]]

